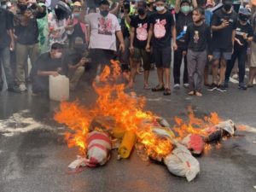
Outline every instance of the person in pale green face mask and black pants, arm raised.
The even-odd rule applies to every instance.
[[[197,7],[196,0],[193,0],[193,7]],[[187,67],[187,56],[186,44],[184,42],[184,36],[187,32],[188,25],[193,22],[192,20],[192,9],[189,0],[177,0],[175,5],[175,18],[176,18],[176,31],[177,31],[177,50],[174,51],[174,62],[173,62],[173,77],[174,77],[174,89],[179,90],[180,88],[180,68],[182,61],[184,62],[183,70],[183,85],[189,87],[188,67]]]

